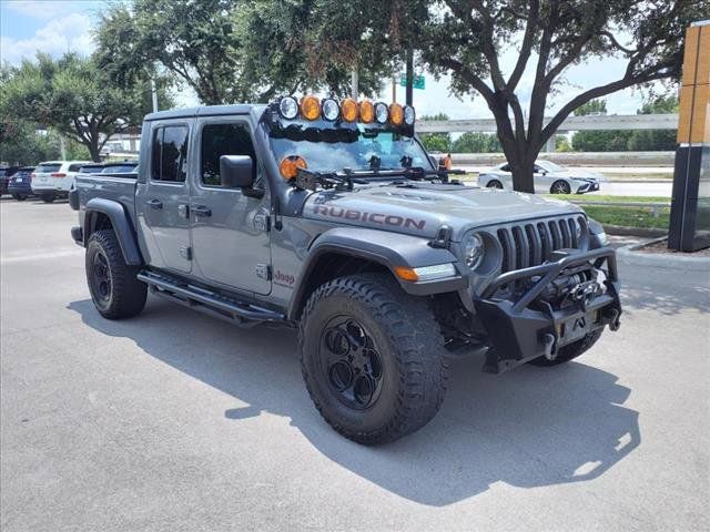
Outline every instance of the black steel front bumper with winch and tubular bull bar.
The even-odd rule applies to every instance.
[[[506,287],[514,297],[499,297]],[[499,275],[474,305],[490,339],[486,371],[498,374],[541,356],[554,359],[560,347],[596,329],[619,328],[615,252],[558,249],[546,264]]]

